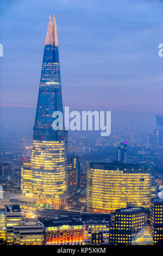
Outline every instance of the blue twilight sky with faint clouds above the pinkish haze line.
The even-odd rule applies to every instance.
[[[1,0],[1,106],[36,106],[53,13],[65,106],[162,113],[161,0]]]

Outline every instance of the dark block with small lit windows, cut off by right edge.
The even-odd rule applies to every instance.
[[[163,245],[163,198],[151,199],[150,222],[154,244]]]

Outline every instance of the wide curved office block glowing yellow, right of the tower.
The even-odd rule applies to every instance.
[[[148,166],[121,163],[89,163],[86,202],[95,212],[111,212],[127,206],[149,208],[154,188]]]

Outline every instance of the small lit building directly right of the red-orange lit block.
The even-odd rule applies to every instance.
[[[109,223],[90,221],[84,224],[86,245],[109,245]]]

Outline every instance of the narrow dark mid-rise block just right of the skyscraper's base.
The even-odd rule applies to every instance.
[[[78,156],[67,157],[68,185],[80,184],[80,158]]]

